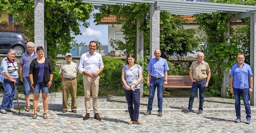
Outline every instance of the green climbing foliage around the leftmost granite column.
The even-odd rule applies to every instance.
[[[8,13],[14,16],[26,30],[30,41],[34,41],[34,0],[9,0]],[[74,37],[81,35],[80,26],[88,27],[92,4],[78,0],[45,0],[44,26],[48,58],[55,60],[58,54],[65,54],[71,48]]]

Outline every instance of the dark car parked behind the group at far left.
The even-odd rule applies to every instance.
[[[7,54],[11,48],[16,55],[22,55],[27,48],[28,39],[23,33],[0,32],[0,54]]]

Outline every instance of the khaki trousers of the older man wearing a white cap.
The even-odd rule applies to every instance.
[[[71,95],[71,110],[76,110],[76,79],[70,81],[62,79],[62,110],[68,109],[68,93]]]

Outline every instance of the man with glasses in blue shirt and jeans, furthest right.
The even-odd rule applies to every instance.
[[[230,93],[234,94],[236,109],[236,120],[234,122],[238,123],[241,121],[240,96],[242,95],[246,113],[246,124],[250,124],[251,108],[248,94],[252,93],[252,70],[248,64],[244,63],[244,54],[238,54],[237,61],[238,63],[232,66],[230,72]],[[250,81],[250,84],[248,81]]]

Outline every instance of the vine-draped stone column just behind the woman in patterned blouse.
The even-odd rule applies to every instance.
[[[136,58],[137,60],[144,61],[144,35],[143,30],[140,30],[140,25],[143,23],[144,18],[137,19],[136,23]],[[143,63],[142,63],[142,80],[140,81],[140,97],[143,97]]]

